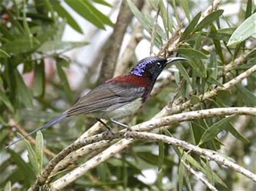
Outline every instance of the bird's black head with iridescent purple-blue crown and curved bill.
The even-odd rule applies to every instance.
[[[158,56],[150,56],[138,62],[138,64],[131,70],[131,74],[137,76],[150,76],[151,79],[156,80],[164,67],[173,61],[187,60],[182,57],[159,58]]]

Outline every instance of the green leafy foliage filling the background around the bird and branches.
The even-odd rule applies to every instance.
[[[214,10],[200,19],[202,13],[193,11],[197,10],[198,2],[168,1],[168,6],[161,0],[149,2],[153,12],[160,9],[161,19],[156,25],[154,45],[161,49],[170,38],[172,42],[178,39],[176,43],[179,46],[176,49],[170,49],[172,44],[169,44],[164,51],[160,51],[160,54],[170,56],[175,52],[189,61],[175,64],[178,68],[173,73],[175,80],[164,87],[157,96],[151,97],[129,125],[138,124],[153,117],[169,103],[175,92],[178,93],[179,103],[185,101],[190,101],[191,105],[203,103],[200,109],[255,107],[255,73],[231,89],[217,91],[207,101],[200,100],[201,95],[207,94],[216,87],[223,87],[224,83],[255,65],[256,13],[253,1],[248,0],[247,4],[240,3],[239,23],[235,25],[232,23],[232,18],[235,16],[224,16],[225,11],[221,9]],[[102,4],[111,7],[111,4],[106,1],[65,0],[64,3],[98,29],[104,30],[105,25],[113,26],[110,18],[95,6],[95,4]],[[225,3],[229,2],[222,4]],[[131,0],[127,0],[127,4],[145,29],[144,37],[148,39],[149,35],[152,35],[154,17],[144,15]],[[56,117],[60,111],[67,108],[66,105],[73,103],[75,99],[65,72],[70,66],[70,60],[63,53],[86,46],[89,42],[62,41],[66,24],[78,33],[84,33],[79,23],[66,11],[63,2],[3,1],[0,9],[2,16],[0,20],[2,23],[0,25],[2,45],[0,48],[0,120],[2,124],[0,143],[7,145],[16,136],[12,126],[19,132],[22,132],[21,126],[24,130],[31,131]],[[181,17],[178,11],[183,11],[184,17]],[[180,25],[182,30],[178,30]],[[52,76],[47,76],[45,72],[48,58],[51,59],[52,65],[56,65]],[[240,61],[235,62],[236,59]],[[237,64],[225,70],[230,63]],[[93,72],[97,73],[97,71],[95,69]],[[27,73],[33,74],[32,85],[24,81],[24,74]],[[161,83],[161,81],[164,79],[158,82]],[[180,92],[177,92],[177,86],[180,86]],[[59,104],[59,100],[65,104]],[[241,166],[246,166],[247,169],[255,172],[255,167],[243,161],[244,156],[253,160],[251,145],[255,143],[253,132],[255,118],[251,117],[245,124],[246,128],[243,132],[239,132],[233,125],[236,119],[237,116],[194,120],[190,123],[166,127],[164,132],[159,133],[183,139],[213,151],[220,150],[227,136],[231,134],[237,139],[238,149],[232,150],[230,157],[240,161]],[[48,151],[58,153],[91,125],[87,121],[84,122],[82,117],[70,119],[70,121],[75,123],[63,123],[60,124],[62,128],[43,131],[45,142],[43,142],[42,133],[38,132],[35,147],[31,145],[31,140],[24,140],[23,144],[17,144],[8,150],[1,147],[0,186],[4,190],[10,190],[11,185],[18,182],[22,190],[30,188],[52,157]],[[43,149],[43,143],[48,151]],[[25,151],[28,151],[28,154]],[[85,158],[93,157],[96,153],[93,151]],[[28,155],[29,160],[25,160],[24,155]],[[234,175],[231,171],[205,158],[159,141],[158,143],[137,142],[131,145],[127,150],[114,155],[90,173],[77,179],[70,189],[196,189],[197,179],[186,171],[181,160],[205,174],[212,185],[218,189],[231,189],[235,183],[243,186],[244,179],[241,175]],[[60,172],[56,179],[82,164],[83,161],[84,158],[79,159]],[[154,173],[157,173],[157,178],[151,183],[146,183],[143,181],[143,176],[146,178],[149,176],[145,174],[145,170],[152,168],[156,169]],[[245,186],[251,187],[252,182],[247,181]]]

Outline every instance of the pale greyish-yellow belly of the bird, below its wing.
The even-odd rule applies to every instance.
[[[142,105],[142,98],[137,98],[130,103],[121,104],[120,107],[114,105],[104,111],[93,112],[91,116],[103,119],[122,119],[133,114],[140,105]]]

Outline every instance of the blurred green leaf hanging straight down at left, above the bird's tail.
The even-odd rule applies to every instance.
[[[45,86],[44,61],[35,66],[35,79],[33,83],[33,95],[43,96]]]

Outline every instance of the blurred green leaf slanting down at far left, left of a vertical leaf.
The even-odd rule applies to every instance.
[[[33,106],[33,97],[30,92],[30,89],[23,81],[23,77],[21,74],[19,74],[18,70],[15,69],[15,79],[17,84],[17,94],[20,98],[20,100],[27,106],[32,107]]]

